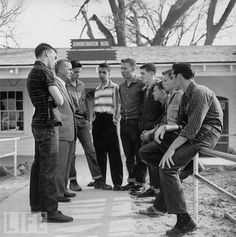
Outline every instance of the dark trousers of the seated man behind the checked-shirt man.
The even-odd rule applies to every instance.
[[[170,144],[178,136],[177,132],[167,132],[161,144],[155,141],[143,145],[139,149],[141,159],[148,164],[150,186],[160,188],[159,162],[160,155],[164,155]]]

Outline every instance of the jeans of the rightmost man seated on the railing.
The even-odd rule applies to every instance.
[[[186,166],[200,151],[201,147],[213,149],[220,138],[211,130],[201,128],[193,141],[188,141],[176,149],[172,160],[174,165],[160,168],[161,189],[157,196],[154,207],[160,211],[167,211],[170,214],[187,213],[187,206],[184,198],[182,184],[179,179],[178,170]],[[161,158],[161,157],[159,157]]]

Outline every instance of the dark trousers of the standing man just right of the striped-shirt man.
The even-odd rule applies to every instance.
[[[145,183],[147,165],[139,155],[141,140],[138,130],[138,120],[121,119],[120,136],[126,157],[128,182]]]

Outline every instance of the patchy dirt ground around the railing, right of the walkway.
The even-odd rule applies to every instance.
[[[236,167],[227,169],[224,167],[211,168],[203,171],[201,175],[221,188],[236,195]],[[193,214],[192,177],[188,177],[184,182],[184,194],[188,203],[189,212]],[[134,197],[131,200],[134,212],[138,212],[139,209],[152,205],[150,203],[151,199],[147,198],[146,200],[138,200]],[[189,236],[235,237],[236,223],[225,218],[225,213],[229,213],[236,218],[235,203],[233,204],[233,202],[228,201],[205,184],[199,182],[199,228],[196,232],[189,234]],[[141,234],[146,232],[146,236],[140,235],[145,237],[157,236],[154,234],[152,235],[151,233],[155,233],[160,226],[165,226],[166,230],[170,229],[175,222],[176,217],[174,215],[140,219],[140,221],[137,221],[137,233]]]

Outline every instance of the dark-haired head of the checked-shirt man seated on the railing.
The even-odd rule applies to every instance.
[[[184,85],[194,78],[194,71],[190,63],[174,63],[172,70],[176,89],[184,88]]]

